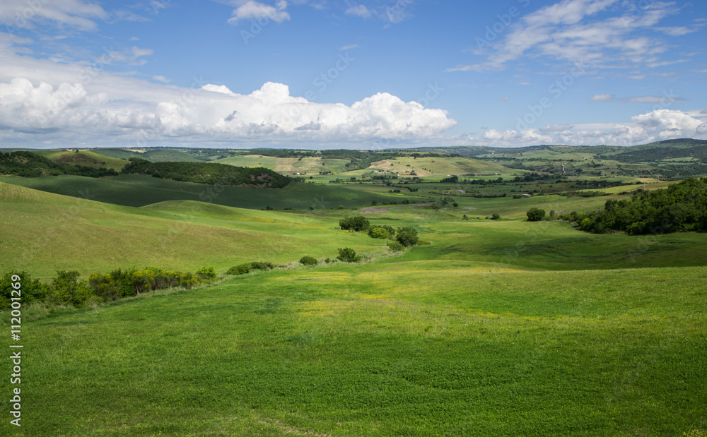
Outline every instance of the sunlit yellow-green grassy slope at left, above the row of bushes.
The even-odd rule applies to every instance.
[[[225,270],[247,261],[334,258],[344,246],[364,252],[383,246],[382,241],[339,231],[338,218],[315,214],[193,201],[131,208],[2,183],[0,199],[0,271],[24,268],[38,277],[53,276],[55,270],[88,275],[144,265]]]

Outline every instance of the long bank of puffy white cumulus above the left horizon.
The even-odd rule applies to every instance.
[[[167,99],[164,97],[170,96]],[[265,83],[248,95],[225,85],[165,88],[161,100],[136,105],[108,93],[89,93],[80,83],[33,85],[16,78],[0,83],[0,131],[77,132],[105,140],[209,140],[221,142],[423,140],[456,121],[441,109],[426,109],[385,92],[351,106],[309,102],[287,85]],[[40,140],[37,137],[37,140]]]

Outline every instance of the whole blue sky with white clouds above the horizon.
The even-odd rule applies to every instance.
[[[0,144],[707,139],[705,41],[703,2],[4,1]]]

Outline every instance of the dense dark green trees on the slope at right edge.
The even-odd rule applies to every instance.
[[[580,229],[631,235],[707,231],[707,178],[685,179],[655,191],[639,191],[624,200],[609,199],[604,210],[563,215]]]

